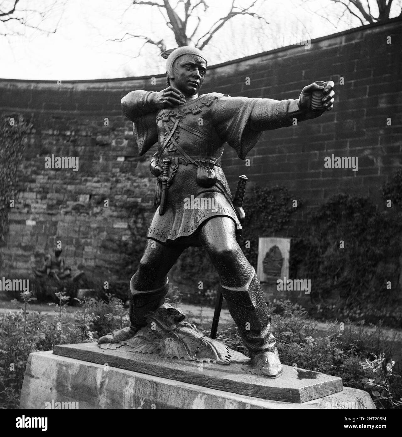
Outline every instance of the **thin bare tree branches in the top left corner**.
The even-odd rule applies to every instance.
[[[55,33],[61,20],[66,0],[27,1],[3,0],[0,5],[0,35],[24,35],[25,28],[36,29],[42,33]],[[58,17],[51,28],[45,21],[58,8]],[[54,18],[54,17],[53,17]]]

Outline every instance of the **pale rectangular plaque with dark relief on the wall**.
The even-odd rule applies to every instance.
[[[261,282],[276,284],[289,277],[290,238],[260,237],[258,239],[257,275]]]

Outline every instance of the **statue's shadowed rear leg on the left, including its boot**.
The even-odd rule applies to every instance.
[[[98,343],[119,343],[130,339],[146,325],[148,312],[156,311],[168,293],[168,271],[188,246],[164,246],[147,239],[140,265],[130,281],[130,326],[113,336],[103,336]]]

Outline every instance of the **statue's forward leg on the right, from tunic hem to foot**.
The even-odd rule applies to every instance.
[[[283,368],[271,332],[271,316],[257,274],[236,241],[233,220],[211,218],[199,239],[218,271],[223,297],[250,353],[253,371],[278,377]]]

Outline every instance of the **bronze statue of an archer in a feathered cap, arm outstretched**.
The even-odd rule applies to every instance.
[[[147,324],[146,314],[164,302],[166,275],[177,258],[189,246],[202,246],[218,271],[223,297],[250,353],[252,371],[276,378],[282,365],[271,316],[256,272],[237,243],[242,228],[221,156],[227,142],[244,160],[261,131],[291,126],[294,119],[304,121],[331,110],[334,83],[304,87],[297,100],[218,93],[199,96],[207,69],[203,53],[180,47],[162,56],[167,59],[168,87],[159,92],[132,91],[122,99],[123,112],[134,123],[139,154],[158,142],[150,166],[158,181],[156,212],[130,282],[130,327],[117,332],[113,343],[127,342]],[[316,90],[323,91],[323,111],[319,112],[310,106]],[[198,198],[202,206],[196,208],[193,202],[193,208],[185,208],[189,198]]]

